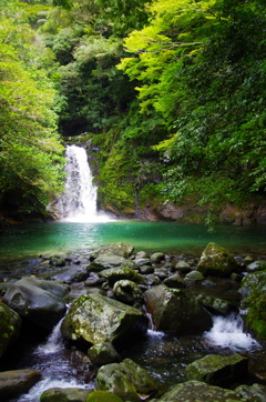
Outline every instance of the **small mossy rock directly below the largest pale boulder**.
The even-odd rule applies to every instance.
[[[91,362],[95,365],[117,363],[121,358],[111,342],[101,342],[91,346],[88,351]]]

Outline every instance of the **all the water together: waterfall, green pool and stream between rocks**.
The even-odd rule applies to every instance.
[[[135,252],[162,251],[186,257],[200,257],[209,241],[219,243],[235,255],[256,257],[266,252],[266,228],[223,225],[209,233],[201,224],[114,221],[99,213],[91,173],[89,171],[84,175],[80,172],[84,167],[88,169],[86,159],[80,149],[76,150],[78,147],[73,147],[66,150],[71,164],[68,173],[72,177],[68,179],[65,193],[58,200],[57,207],[62,220],[6,228],[0,244],[0,279],[11,277],[16,280],[34,273],[41,254],[71,253],[85,261],[93,248],[117,241],[133,244]],[[75,158],[81,158],[82,162]],[[44,275],[45,268],[38,274]],[[231,285],[232,281],[221,281],[215,292],[236,293],[237,290],[231,289]],[[43,380],[12,402],[38,402],[41,393],[50,388],[94,386],[93,368],[86,354],[74,346],[66,348],[60,324],[47,338],[23,339],[13,348],[10,360],[1,362],[2,371],[37,369],[42,372]],[[214,315],[213,328],[202,336],[167,335],[154,331],[151,322],[146,336],[122,351],[121,358],[130,358],[141,364],[166,389],[185,381],[184,369],[194,360],[206,354],[229,355],[236,352],[248,353],[255,360],[265,353],[264,348],[244,332],[241,316],[234,313]]]

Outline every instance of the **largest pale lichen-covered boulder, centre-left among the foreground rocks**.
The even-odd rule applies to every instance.
[[[147,318],[130,305],[101,294],[84,294],[71,305],[61,332],[70,341],[115,345],[143,335],[147,325]]]

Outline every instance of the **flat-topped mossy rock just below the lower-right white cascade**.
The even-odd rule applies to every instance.
[[[203,381],[211,385],[229,386],[247,378],[247,358],[236,353],[231,356],[208,354],[187,365],[187,380]]]

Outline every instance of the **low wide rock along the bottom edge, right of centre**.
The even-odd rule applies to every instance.
[[[243,399],[232,390],[225,390],[218,386],[205,384],[200,381],[187,381],[173,386],[157,401],[160,402],[225,402],[225,401],[243,401]]]

